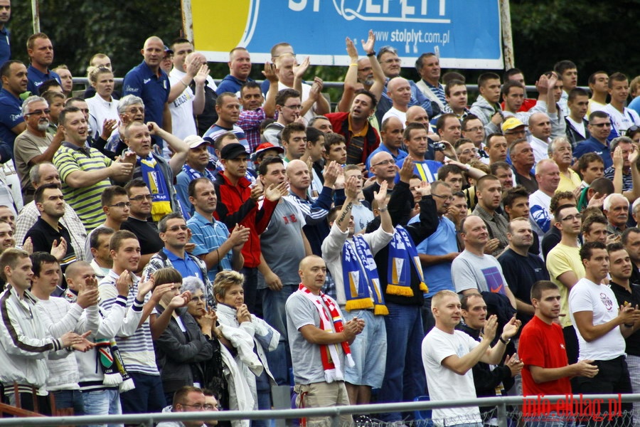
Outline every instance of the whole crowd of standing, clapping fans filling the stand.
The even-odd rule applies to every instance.
[[[190,41],[151,36],[119,91],[96,53],[76,96],[46,34],[30,64],[3,40],[4,403],[108,416],[267,409],[289,386],[298,407],[640,392],[640,76],[599,71],[587,91],[560,60],[535,99],[513,68],[482,73],[469,102],[436,55],[413,82],[370,33],[346,39],[331,111],[289,43],[262,76],[234,48],[216,85]],[[572,422],[555,406],[528,421]]]

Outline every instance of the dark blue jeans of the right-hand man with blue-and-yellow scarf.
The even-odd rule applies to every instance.
[[[427,379],[422,369],[422,317],[417,305],[399,305],[387,302],[389,314],[385,316],[387,328],[387,363],[384,386],[378,402],[410,402],[425,394]],[[400,421],[400,412],[380,414],[384,421]]]

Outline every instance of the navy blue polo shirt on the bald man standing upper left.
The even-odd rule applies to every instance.
[[[164,105],[169,100],[171,84],[169,76],[159,69],[160,75],[154,73],[144,60],[137,67],[129,70],[122,82],[122,96],[136,95],[144,102],[144,121],[156,122],[162,127]]]

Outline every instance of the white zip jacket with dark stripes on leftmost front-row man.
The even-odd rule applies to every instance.
[[[11,285],[0,297],[0,381],[11,386],[35,386],[38,394],[46,395],[48,369],[46,357],[50,351],[62,349],[59,339],[48,337],[38,312],[36,297],[28,290],[23,299]]]

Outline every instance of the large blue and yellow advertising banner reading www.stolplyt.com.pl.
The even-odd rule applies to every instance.
[[[503,68],[498,0],[191,0],[191,15],[196,48],[212,61],[244,46],[264,62],[287,41],[312,64],[348,65],[345,38],[373,29],[376,48],[398,49],[405,66],[434,52],[443,68]]]

